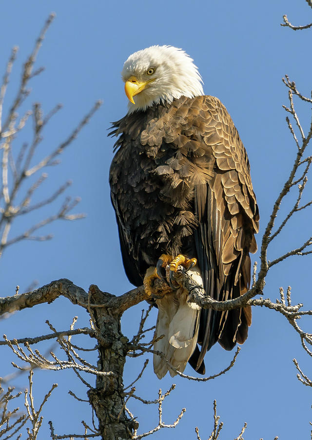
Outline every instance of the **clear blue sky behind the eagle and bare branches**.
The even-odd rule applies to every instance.
[[[23,109],[27,110],[37,101],[46,112],[59,102],[64,105],[44,132],[38,154],[45,155],[66,138],[97,99],[103,99],[101,109],[62,155],[61,165],[48,170],[49,179],[38,194],[38,197],[47,196],[59,184],[72,179],[68,194],[82,198],[76,212],[84,212],[87,217],[47,227],[43,233],[55,235],[50,242],[21,242],[5,251],[0,262],[1,296],[13,295],[16,285],[20,285],[23,292],[34,280],[42,286],[63,277],[86,290],[90,284],[97,284],[102,290],[116,295],[131,288],[122,268],[115,215],[110,203],[108,173],[114,141],[107,138],[106,130],[111,121],[126,112],[127,98],[120,80],[123,62],[131,53],[152,44],[172,44],[186,50],[203,77],[205,93],[219,97],[229,110],[251,162],[261,217],[259,242],[295,155],[295,145],[281,107],[288,105],[288,93],[281,77],[289,74],[308,96],[312,88],[312,31],[293,32],[280,26],[285,13],[292,23],[311,22],[311,9],[305,1],[2,0],[0,72],[4,72],[11,47],[20,47],[4,111],[15,96],[22,63],[52,11],[57,17],[47,33],[37,63],[38,67],[45,66],[45,71],[32,80],[32,94]],[[297,109],[308,132],[309,106],[300,105]],[[22,142],[29,140],[30,134],[29,122],[14,147],[18,150]],[[311,185],[307,186],[309,193],[311,195]],[[292,195],[287,197],[290,205],[293,200]],[[21,218],[12,228],[10,237],[54,213],[61,201],[41,213]],[[286,208],[282,207],[280,213],[282,220]],[[269,259],[300,245],[310,235],[311,210],[289,222],[284,234],[270,247]],[[254,258],[258,259],[258,254]],[[312,308],[310,271],[311,258],[288,259],[270,271],[266,295],[274,300],[278,297],[279,286],[286,290],[291,285],[293,303],[303,302],[305,308]],[[143,307],[146,305],[140,304],[123,317],[122,331],[130,339],[136,332]],[[49,333],[46,319],[58,330],[66,330],[75,315],[78,315],[79,326],[88,324],[84,310],[61,298],[52,305],[38,306],[2,319],[0,331],[9,338]],[[155,321],[154,310],[149,324]],[[302,319],[301,325],[311,329],[308,320]],[[77,341],[78,344],[90,344],[88,337]],[[52,342],[39,348],[42,352],[57,350]],[[233,354],[219,346],[213,347],[206,355],[207,374],[225,368]],[[65,358],[65,355],[60,356]],[[176,390],[164,403],[164,421],[173,422],[181,408],[187,408],[175,430],[161,430],[154,438],[195,439],[195,426],[199,427],[202,439],[209,437],[215,398],[218,414],[225,424],[222,439],[236,437],[245,421],[248,422],[245,439],[273,440],[276,435],[279,439],[310,438],[312,391],[296,379],[293,357],[309,375],[311,359],[286,319],[274,311],[257,308],[253,311],[249,338],[234,368],[224,376],[207,383],[170,377],[159,381],[152,364],[149,365],[137,385],[137,394],[154,399],[159,387],[165,391],[176,383]],[[12,371],[11,360],[9,350],[1,347],[1,376]],[[95,358],[92,360],[96,362]],[[125,385],[137,376],[141,365],[142,357],[127,361]],[[186,373],[193,374],[193,371],[187,368]],[[81,434],[83,429],[78,423],[81,419],[90,421],[90,409],[67,394],[71,389],[79,397],[86,398],[85,388],[76,376],[67,371],[57,374],[36,371],[35,378],[37,407],[51,384],[59,383],[45,407],[39,438],[48,438],[50,419],[54,421],[56,434]],[[22,375],[12,383],[22,389],[26,382],[26,375]],[[134,401],[129,403],[129,408],[138,416],[139,433],[156,426],[156,407],[146,408]]]

